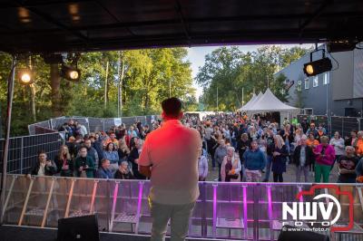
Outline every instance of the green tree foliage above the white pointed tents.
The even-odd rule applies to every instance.
[[[274,73],[307,53],[307,49],[279,46],[262,46],[255,52],[242,53],[238,47],[221,47],[205,56],[205,64],[197,74],[196,81],[203,87],[200,101],[209,111],[235,111],[250,100],[252,92],[264,92],[270,87],[281,101],[287,101],[285,76],[274,78]]]

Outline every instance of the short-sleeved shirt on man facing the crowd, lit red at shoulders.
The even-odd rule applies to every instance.
[[[179,120],[167,120],[162,128],[153,130],[139,159],[140,166],[152,165],[152,201],[171,205],[194,202],[199,197],[200,153],[200,133],[182,126]]]

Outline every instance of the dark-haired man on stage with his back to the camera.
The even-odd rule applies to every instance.
[[[162,101],[162,128],[148,135],[139,159],[140,172],[151,177],[152,241],[164,240],[169,219],[171,240],[184,240],[199,197],[201,136],[182,126],[182,116],[182,101]]]

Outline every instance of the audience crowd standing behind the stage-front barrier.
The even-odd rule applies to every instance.
[[[314,121],[285,119],[278,124],[260,115],[249,118],[245,113],[220,113],[203,120],[185,115],[182,123],[201,135],[201,181],[211,169],[218,169],[218,179],[223,182],[283,182],[290,165],[296,182],[301,181],[301,174],[305,182],[332,182],[332,169],[338,170],[338,179],[333,182],[363,182],[363,131],[351,130],[343,138],[338,131],[330,136]],[[70,120],[60,128],[66,133],[66,144],[53,160],[39,151],[29,175],[145,179],[138,166],[142,144],[161,126],[162,121],[157,120],[151,127],[137,122],[88,133],[83,125]]]

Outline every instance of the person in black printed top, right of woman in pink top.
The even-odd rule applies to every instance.
[[[352,146],[345,148],[345,155],[340,155],[338,159],[338,183],[355,183],[357,174],[358,157],[356,149]]]

